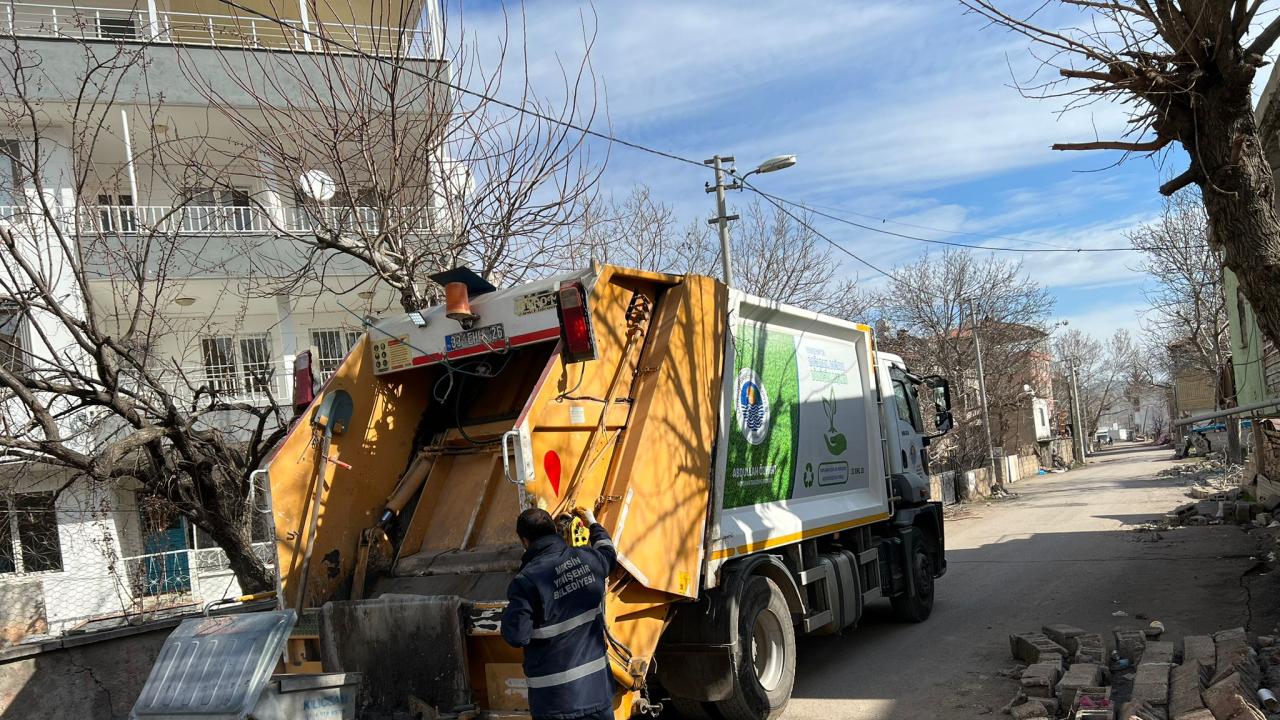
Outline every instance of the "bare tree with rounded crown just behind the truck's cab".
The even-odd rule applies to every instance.
[[[992,434],[1000,445],[1023,411],[1024,386],[1043,379],[1039,366],[1048,360],[1046,318],[1052,299],[1020,263],[947,250],[896,268],[877,305],[879,347],[902,355],[918,372],[950,378],[956,388],[956,432],[934,452],[948,454],[952,469],[984,466],[974,331],[987,369]]]

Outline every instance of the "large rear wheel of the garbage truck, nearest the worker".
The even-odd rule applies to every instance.
[[[724,720],[773,720],[791,700],[796,635],[791,611],[773,580],[755,575],[737,598],[733,694],[716,703]]]

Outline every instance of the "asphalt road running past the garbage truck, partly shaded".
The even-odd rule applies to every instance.
[[[997,673],[1014,662],[1009,634],[1048,623],[1108,638],[1146,625],[1138,614],[1164,621],[1165,639],[1251,620],[1270,629],[1274,610],[1254,602],[1251,616],[1240,580],[1256,565],[1254,538],[1226,525],[1140,530],[1187,502],[1184,480],[1156,477],[1171,456],[1116,448],[1084,469],[1011,486],[1015,500],[960,506],[947,519],[948,570],[933,616],[897,624],[886,603],[845,635],[801,639],[783,717],[1006,717],[1000,708],[1016,685]],[[1270,597],[1275,577],[1262,578]]]

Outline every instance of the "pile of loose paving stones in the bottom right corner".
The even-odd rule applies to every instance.
[[[1280,646],[1242,628],[1161,641],[1158,623],[1101,634],[1070,625],[1009,637],[1020,689],[1005,706],[1016,720],[1275,720]],[[1112,684],[1112,674],[1116,683]],[[1270,689],[1268,689],[1270,688]],[[1119,693],[1114,694],[1112,691]],[[1117,697],[1117,696],[1125,697]]]

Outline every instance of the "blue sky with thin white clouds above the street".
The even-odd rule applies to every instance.
[[[495,5],[462,12],[485,46],[499,27]],[[598,129],[698,160],[735,155],[741,169],[795,154],[795,168],[756,184],[837,214],[883,218],[881,227],[909,234],[1124,247],[1125,231],[1158,213],[1160,182],[1184,168],[1178,155],[1108,168],[1116,154],[1050,150],[1056,141],[1115,137],[1124,115],[1107,105],[1060,114],[1057,101],[1021,97],[1014,76],[1034,78],[1039,68],[1025,38],[984,27],[954,0],[529,0],[525,12],[530,73],[548,92],[561,64],[582,56],[582,23],[595,27],[590,59],[608,111]],[[1069,10],[1042,20],[1084,17]],[[613,147],[603,179],[617,192],[643,182],[696,218],[712,214],[709,178],[707,169]],[[817,227],[881,266],[941,250],[820,218]],[[1002,255],[1021,256],[1071,327],[1100,337],[1139,329],[1146,302],[1133,254]],[[868,287],[882,281],[852,260],[844,269]]]

